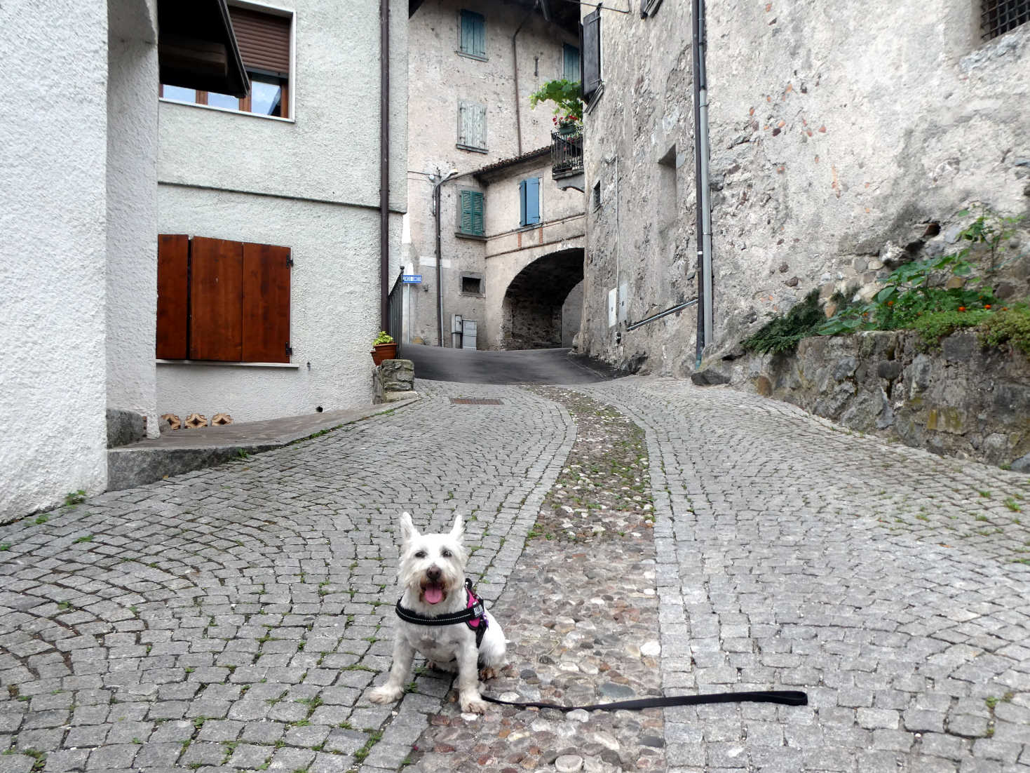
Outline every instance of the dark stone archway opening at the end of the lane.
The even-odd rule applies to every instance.
[[[565,305],[565,300],[582,281],[583,249],[579,247],[545,255],[519,271],[502,304],[502,348],[557,348],[562,338],[571,340],[568,333],[573,327],[579,329],[581,304]]]

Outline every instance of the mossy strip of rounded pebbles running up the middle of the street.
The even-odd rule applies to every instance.
[[[483,692],[569,705],[660,696],[644,433],[579,393],[531,391],[564,406],[576,442],[491,607],[510,641],[509,665]],[[655,708],[562,713],[496,706],[480,717],[461,714],[451,701],[430,717],[412,762],[422,773],[476,766],[664,770],[664,743]]]

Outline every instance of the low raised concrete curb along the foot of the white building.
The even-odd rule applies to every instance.
[[[355,410],[339,410],[290,419],[253,422],[207,430],[179,430],[176,435],[143,440],[107,449],[107,491],[117,492],[152,483],[166,476],[214,467],[242,453],[263,453],[364,418],[403,408],[412,400],[383,403]],[[281,424],[281,427],[276,427]],[[247,438],[248,427],[253,437]],[[229,437],[227,437],[229,436]]]

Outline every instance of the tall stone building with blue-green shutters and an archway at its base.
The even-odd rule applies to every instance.
[[[561,343],[553,307],[571,288],[556,298],[566,279],[551,282],[546,267],[578,249],[574,284],[582,278],[582,195],[554,180],[551,110],[530,109],[529,95],[579,79],[578,10],[548,6],[545,15],[534,0],[412,3],[404,271],[419,280],[404,290],[405,342],[440,343],[442,329],[445,346]],[[548,322],[513,336],[513,318],[528,333],[526,315]]]

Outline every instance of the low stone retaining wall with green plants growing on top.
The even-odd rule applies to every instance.
[[[1030,360],[961,331],[927,351],[911,331],[803,339],[793,356],[745,356],[731,385],[935,453],[1030,470]]]

